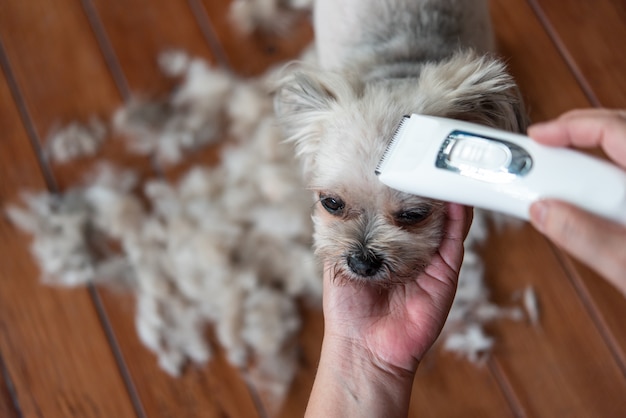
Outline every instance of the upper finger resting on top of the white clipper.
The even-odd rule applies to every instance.
[[[532,125],[528,135],[552,146],[601,147],[626,168],[626,112],[588,109],[568,112],[559,119]]]

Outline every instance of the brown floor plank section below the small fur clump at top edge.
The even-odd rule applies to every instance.
[[[253,76],[296,57],[313,37],[310,19],[302,16],[284,36],[256,31],[241,33],[229,17],[231,0],[201,0],[212,33],[228,59],[229,67],[239,75]]]

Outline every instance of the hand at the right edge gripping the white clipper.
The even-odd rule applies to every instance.
[[[574,110],[535,124],[528,135],[551,146],[601,147],[626,169],[626,111]],[[626,227],[573,205],[541,200],[530,208],[532,224],[554,243],[587,264],[626,295]]]

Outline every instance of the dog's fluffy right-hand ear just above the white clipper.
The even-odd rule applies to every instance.
[[[498,59],[459,53],[443,64],[426,66],[420,84],[437,86],[433,100],[447,104],[442,109],[447,117],[526,132],[529,119],[521,93]]]

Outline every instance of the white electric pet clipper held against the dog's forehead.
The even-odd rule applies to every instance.
[[[405,116],[376,173],[406,193],[529,219],[544,198],[626,225],[626,173],[598,158],[452,119]]]

